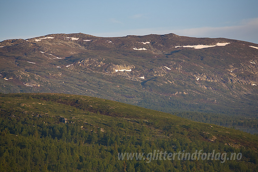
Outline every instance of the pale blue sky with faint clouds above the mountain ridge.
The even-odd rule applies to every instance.
[[[257,0],[0,0],[0,41],[53,33],[175,33],[258,43]]]

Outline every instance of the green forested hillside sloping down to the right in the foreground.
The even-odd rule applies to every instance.
[[[258,137],[239,130],[89,96],[0,100],[0,171],[258,170]]]

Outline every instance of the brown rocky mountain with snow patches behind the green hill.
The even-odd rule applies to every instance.
[[[76,33],[0,46],[2,93],[87,95],[257,132],[258,44]]]

